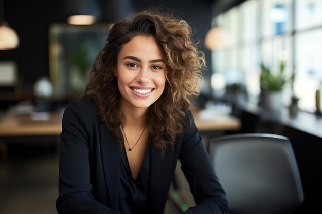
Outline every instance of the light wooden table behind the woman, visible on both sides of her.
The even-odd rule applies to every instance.
[[[203,120],[199,112],[193,111],[200,132],[236,130],[241,126],[238,118],[227,114],[216,114]],[[62,113],[34,113],[17,115],[7,112],[0,115],[0,151],[6,154],[6,142],[12,139],[57,138],[62,131]],[[2,143],[1,143],[2,142]]]

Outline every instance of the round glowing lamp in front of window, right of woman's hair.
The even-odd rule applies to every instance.
[[[222,49],[228,45],[228,41],[229,36],[227,31],[217,25],[207,32],[205,46],[209,50]]]

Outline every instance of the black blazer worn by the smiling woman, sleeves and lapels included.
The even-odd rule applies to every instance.
[[[164,158],[152,146],[151,214],[163,213],[178,159],[197,204],[186,213],[228,213],[225,192],[190,112],[188,120],[188,130],[177,137],[174,148],[167,148]],[[118,141],[99,120],[93,101],[70,102],[61,133],[58,212],[119,213],[120,154]]]

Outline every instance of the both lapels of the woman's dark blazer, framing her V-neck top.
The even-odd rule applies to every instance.
[[[108,199],[112,210],[119,210],[119,187],[120,187],[120,161],[121,146],[115,137],[100,124],[100,143],[103,170],[108,189]],[[152,213],[159,213],[160,208],[165,204],[175,166],[178,159],[178,152],[167,148],[162,157],[161,150],[151,143],[150,157],[150,196]]]

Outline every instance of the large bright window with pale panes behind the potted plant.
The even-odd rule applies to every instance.
[[[315,92],[322,84],[322,1],[248,0],[214,17],[230,33],[230,43],[213,51],[213,71],[227,83],[243,84],[249,96],[260,92],[260,63],[285,75],[295,74],[283,91],[285,105],[292,93],[302,110],[315,111]]]

